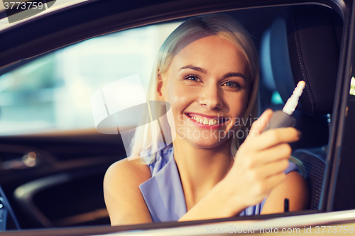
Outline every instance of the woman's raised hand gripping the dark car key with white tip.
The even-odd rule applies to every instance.
[[[263,201],[285,179],[284,171],[292,152],[288,142],[300,139],[295,128],[278,128],[262,133],[272,115],[273,111],[266,110],[253,123],[248,137],[236,153],[233,166],[222,180],[225,186],[229,186],[235,214]]]

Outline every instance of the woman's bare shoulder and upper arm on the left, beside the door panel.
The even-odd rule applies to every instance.
[[[151,215],[139,185],[151,178],[151,170],[139,159],[111,164],[104,177],[104,198],[111,225],[151,223]]]

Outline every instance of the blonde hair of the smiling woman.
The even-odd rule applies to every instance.
[[[157,100],[157,85],[158,85],[158,74],[163,74],[168,71],[168,68],[173,61],[173,57],[178,54],[183,43],[187,39],[202,38],[205,36],[214,35],[224,40],[228,40],[230,43],[234,44],[245,56],[250,70],[249,79],[249,104],[244,113],[244,120],[252,119],[258,117],[258,105],[256,102],[256,97],[258,94],[258,80],[259,80],[259,64],[258,64],[258,53],[256,51],[255,45],[251,36],[246,31],[246,29],[241,26],[238,22],[225,14],[217,13],[205,16],[197,16],[190,18],[189,20],[182,23],[178,28],[176,28],[173,33],[165,40],[163,45],[160,47],[158,56],[155,60],[153,67],[153,72],[151,74],[151,82],[148,90],[148,101]],[[167,109],[160,108],[156,109],[155,117],[163,116]],[[243,122],[244,123],[244,122]],[[246,131],[246,128],[251,128],[251,122],[245,122],[246,125],[239,127]],[[158,124],[155,124],[158,125]],[[152,130],[155,130],[152,132]],[[245,134],[246,132],[244,132]],[[138,127],[133,139],[132,152],[131,155],[134,156],[147,156],[142,154],[142,151],[146,150],[159,150],[158,148],[158,138],[160,136],[160,129],[158,127]],[[233,135],[231,140],[231,157],[236,155],[236,151],[241,145],[243,140],[239,140],[236,135]],[[144,159],[141,160],[150,164],[155,159],[155,154],[149,154]]]

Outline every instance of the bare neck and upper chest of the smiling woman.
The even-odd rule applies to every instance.
[[[230,142],[218,147],[200,148],[176,137],[173,142],[174,158],[180,172],[187,210],[201,200],[229,172],[233,159]]]

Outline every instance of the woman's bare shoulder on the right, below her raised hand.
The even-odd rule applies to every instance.
[[[268,195],[261,213],[282,213],[285,198],[289,199],[290,211],[307,210],[310,203],[310,189],[305,178],[298,172],[286,174],[285,180],[275,186]]]

